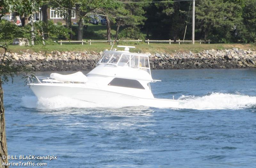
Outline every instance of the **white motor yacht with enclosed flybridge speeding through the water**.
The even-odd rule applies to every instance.
[[[88,74],[52,73],[50,77],[29,77],[28,85],[37,98],[65,96],[93,103],[124,104],[179,108],[179,101],[154,98],[148,55],[116,49],[105,51],[96,67]]]

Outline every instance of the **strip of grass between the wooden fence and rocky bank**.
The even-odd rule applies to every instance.
[[[237,47],[239,49],[251,49],[256,50],[255,44],[157,44],[157,43],[141,43],[141,44],[120,44],[126,46],[135,46],[135,49],[131,49],[131,52],[149,52],[149,53],[175,53],[175,52],[189,52],[192,51],[194,53],[203,51],[203,50],[210,50],[210,49],[229,49],[233,47]],[[38,52],[38,51],[95,51],[100,52],[104,51],[105,49],[110,50],[111,46],[109,43],[92,43],[89,45],[85,43],[84,45],[81,44],[62,44],[60,45],[52,45],[52,46],[10,46],[9,50],[11,52],[19,52],[19,51],[26,51],[27,49],[30,52]],[[113,48],[117,48],[116,45]],[[4,50],[0,50],[1,53]]]

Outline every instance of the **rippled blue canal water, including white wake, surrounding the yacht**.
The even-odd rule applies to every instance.
[[[38,101],[15,77],[4,84],[8,154],[58,156],[31,160],[52,168],[256,167],[255,69],[152,70],[152,76],[162,80],[151,84],[155,97],[174,96],[182,109]],[[9,160],[19,161],[28,160]]]

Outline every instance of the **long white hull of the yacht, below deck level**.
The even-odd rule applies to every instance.
[[[31,90],[39,98],[63,96],[93,103],[107,103],[113,106],[148,106],[161,108],[179,108],[180,101],[171,99],[142,98],[98,88],[49,86],[33,84]]]

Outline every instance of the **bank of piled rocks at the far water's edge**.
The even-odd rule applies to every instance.
[[[103,52],[7,53],[13,66],[28,66],[32,71],[81,71],[95,67]],[[238,48],[204,50],[200,53],[145,53],[151,69],[256,68],[255,50]]]

